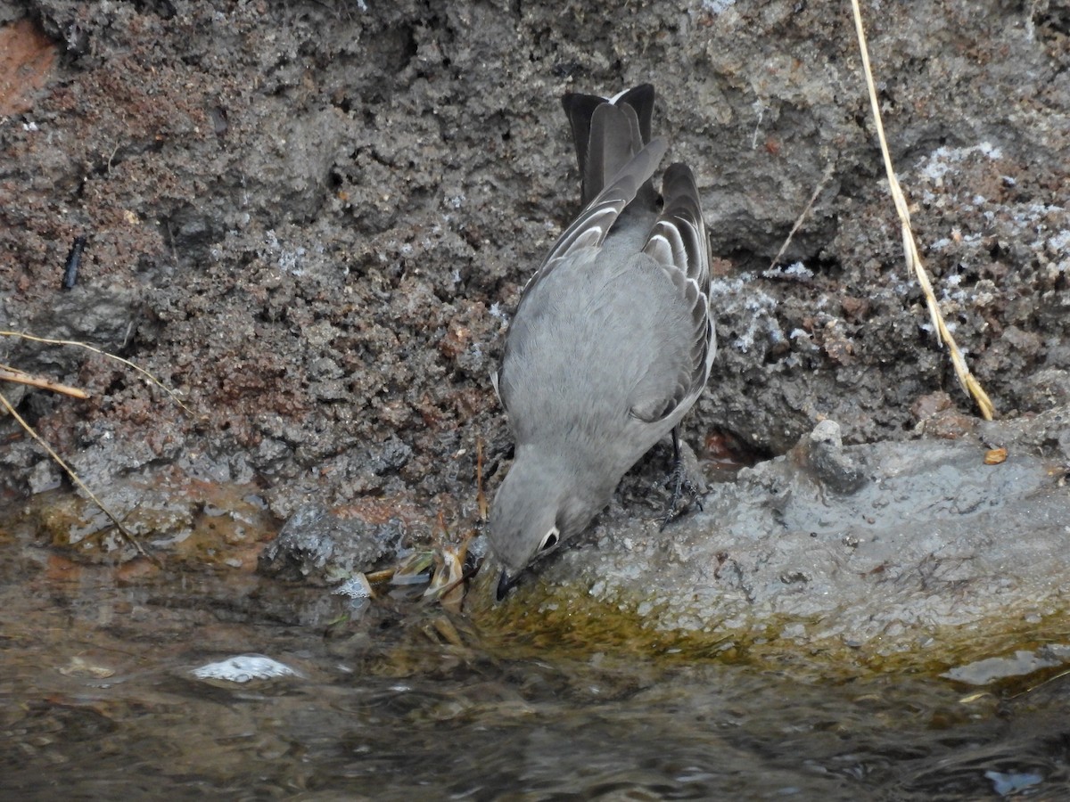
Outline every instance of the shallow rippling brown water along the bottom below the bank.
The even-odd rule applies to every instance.
[[[437,607],[345,620],[348,600],[247,570],[81,566],[11,533],[0,564],[4,798],[1070,795],[1070,678],[533,659]],[[243,653],[300,676],[193,675]]]

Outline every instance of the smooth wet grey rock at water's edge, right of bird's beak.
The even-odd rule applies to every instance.
[[[1067,414],[987,425],[1010,444],[998,465],[984,464],[975,437],[841,450],[826,421],[800,444],[807,460],[796,451],[742,471],[663,533],[611,508],[597,546],[567,550],[504,604],[673,633],[692,648],[789,623],[793,641],[867,653],[960,627],[1025,627],[1064,603],[1070,503],[1066,463],[1022,444],[1070,432]],[[815,447],[830,456],[821,469]]]

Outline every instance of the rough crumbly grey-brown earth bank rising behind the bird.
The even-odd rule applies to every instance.
[[[1070,384],[1065,12],[871,17],[944,310],[1000,414],[1042,412]],[[557,97],[645,80],[719,257],[721,351],[690,439],[774,456],[824,417],[852,444],[911,437],[941,389],[972,413],[903,273],[846,15],[26,0],[16,20],[40,35],[0,120],[0,319],[134,358],[195,410],[85,352],[0,339],[4,363],[93,394],[16,400],[98,485],[177,466],[256,481],[284,519],[380,497],[472,521],[477,438],[491,487],[508,456],[487,380],[507,313],[576,211]],[[0,426],[6,493],[58,481]]]

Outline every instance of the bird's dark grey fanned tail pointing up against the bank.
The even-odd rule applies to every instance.
[[[612,98],[569,93],[561,105],[572,126],[586,205],[651,141],[654,87],[643,83]],[[640,189],[641,195],[653,192],[649,182]]]

